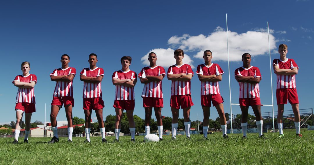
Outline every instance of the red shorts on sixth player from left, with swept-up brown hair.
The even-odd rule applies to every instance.
[[[170,107],[180,109],[193,106],[191,95],[174,95],[170,98]]]

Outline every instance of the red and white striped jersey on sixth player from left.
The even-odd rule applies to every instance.
[[[180,67],[177,65],[172,65],[169,67],[167,74],[192,74],[194,76],[193,70],[190,65],[182,64]],[[171,96],[174,95],[191,95],[191,80],[188,81],[177,81],[171,80]]]

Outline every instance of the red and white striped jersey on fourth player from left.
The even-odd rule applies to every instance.
[[[123,72],[122,70],[116,71],[112,74],[112,78],[123,79],[137,79],[137,74],[134,71],[128,70]],[[135,80],[134,80],[135,81]],[[124,85],[116,85],[115,100],[135,100],[134,87],[127,87]]]

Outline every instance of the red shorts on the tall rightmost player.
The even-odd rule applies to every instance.
[[[289,100],[290,104],[298,104],[299,98],[295,88],[277,89],[277,104],[287,104]]]

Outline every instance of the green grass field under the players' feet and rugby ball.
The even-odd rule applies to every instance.
[[[120,143],[100,143],[101,137],[91,137],[92,143],[83,143],[84,138],[60,138],[59,143],[47,144],[50,138],[29,138],[28,144],[12,144],[13,138],[0,138],[0,164],[314,164],[314,131],[302,129],[302,138],[295,137],[295,130],[267,133],[267,139],[257,134],[229,134],[222,139],[221,133],[192,135],[191,139],[164,136],[158,143],[143,143],[143,136],[120,137]]]

